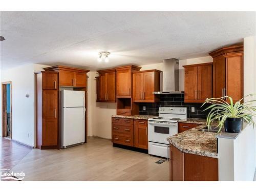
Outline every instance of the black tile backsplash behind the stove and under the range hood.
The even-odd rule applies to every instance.
[[[201,108],[202,103],[184,103],[184,94],[162,94],[160,102],[157,103],[140,103],[140,115],[156,115],[158,116],[159,106],[179,106],[187,108],[187,118],[203,118],[206,119],[209,111],[204,111],[207,105]],[[143,111],[146,106],[146,111]],[[195,112],[191,112],[191,107],[195,107]]]

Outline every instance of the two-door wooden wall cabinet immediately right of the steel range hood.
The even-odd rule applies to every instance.
[[[212,97],[212,62],[185,68],[184,102],[204,102]]]

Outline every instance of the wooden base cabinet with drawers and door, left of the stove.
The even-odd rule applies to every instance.
[[[112,142],[147,150],[147,120],[112,117]]]

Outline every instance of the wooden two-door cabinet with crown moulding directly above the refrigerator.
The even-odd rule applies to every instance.
[[[59,72],[59,86],[60,87],[87,87],[87,73],[89,70],[65,67],[65,66],[53,66],[44,68],[45,71],[57,71]]]

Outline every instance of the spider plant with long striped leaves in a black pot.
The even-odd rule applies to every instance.
[[[245,96],[252,96],[256,94],[250,94]],[[219,127],[218,133],[221,131],[223,125],[225,128],[225,132],[228,133],[240,133],[242,127],[242,121],[246,121],[249,124],[255,124],[252,120],[253,116],[256,116],[256,106],[253,104],[256,100],[249,100],[246,102],[242,102],[244,98],[240,99],[236,103],[233,103],[233,99],[229,96],[224,96],[221,98],[207,98],[205,102],[210,104],[205,110],[210,110],[206,124],[208,129],[212,122],[219,121],[217,127]],[[229,100],[229,103],[226,101]]]

